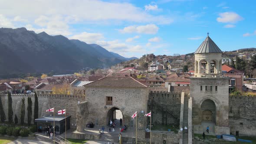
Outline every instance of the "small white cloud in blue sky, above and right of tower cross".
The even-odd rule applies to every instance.
[[[219,13],[217,21],[220,23],[236,23],[237,21],[243,20],[243,17],[234,12]]]

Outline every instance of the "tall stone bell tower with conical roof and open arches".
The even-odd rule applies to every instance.
[[[230,134],[228,78],[222,76],[222,51],[207,33],[195,56],[195,73],[190,77],[192,124],[195,133]]]

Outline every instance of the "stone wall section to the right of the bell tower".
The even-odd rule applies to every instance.
[[[230,133],[256,136],[256,97],[229,97]]]

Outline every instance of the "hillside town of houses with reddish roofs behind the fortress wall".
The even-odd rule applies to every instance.
[[[229,77],[229,91],[234,89],[240,92],[255,91],[256,79],[246,77],[245,72],[235,69],[236,57],[250,61],[255,56],[255,51],[223,52],[222,73]],[[252,74],[255,73],[254,69]],[[85,95],[83,85],[102,79],[106,76],[130,76],[141,83],[149,85],[151,91],[190,90],[190,77],[194,76],[194,55],[181,56],[154,56],[148,54],[141,59],[122,62],[110,69],[97,69],[82,71],[75,74],[63,74],[41,78],[7,79],[0,80],[0,93],[7,91],[13,94],[38,93],[38,94],[66,94]]]

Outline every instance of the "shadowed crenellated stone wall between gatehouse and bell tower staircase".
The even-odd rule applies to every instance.
[[[181,92],[150,92],[149,111],[153,124],[177,124],[181,111]]]

